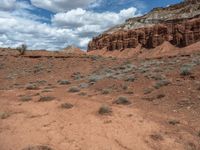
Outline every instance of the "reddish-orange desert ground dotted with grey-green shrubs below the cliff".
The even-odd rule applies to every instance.
[[[165,49],[1,49],[0,150],[200,150],[199,45]]]

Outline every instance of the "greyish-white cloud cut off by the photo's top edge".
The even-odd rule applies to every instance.
[[[32,5],[53,12],[66,12],[75,8],[85,8],[95,0],[31,0]]]

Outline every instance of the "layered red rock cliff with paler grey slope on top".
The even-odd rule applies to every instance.
[[[200,0],[185,0],[166,8],[155,8],[148,14],[128,19],[93,38],[88,51],[123,50],[141,45],[155,48],[164,41],[177,47],[200,41]]]

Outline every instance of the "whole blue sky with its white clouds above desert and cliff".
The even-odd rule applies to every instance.
[[[0,47],[86,49],[92,37],[154,7],[181,0],[0,0]]]

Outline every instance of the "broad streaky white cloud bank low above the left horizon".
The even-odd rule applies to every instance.
[[[0,47],[26,43],[30,49],[55,50],[80,42],[70,29],[59,29],[7,12],[0,12],[0,25]]]

